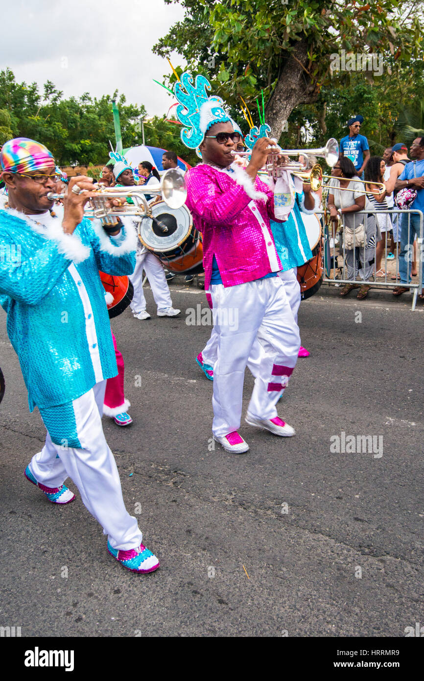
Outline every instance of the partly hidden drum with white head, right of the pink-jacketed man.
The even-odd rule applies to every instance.
[[[297,268],[297,281],[300,284],[301,299],[310,298],[319,290],[324,277],[323,246],[321,239],[321,221],[315,214],[302,213],[312,258]]]

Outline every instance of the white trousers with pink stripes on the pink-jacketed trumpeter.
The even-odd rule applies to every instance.
[[[240,428],[244,370],[255,339],[259,364],[248,414],[272,419],[296,365],[300,337],[280,277],[227,288],[214,284],[210,289],[217,347],[212,433],[222,437]]]

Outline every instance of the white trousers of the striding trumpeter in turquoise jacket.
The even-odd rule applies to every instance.
[[[69,476],[78,487],[84,506],[101,524],[103,534],[108,535],[112,548],[127,551],[138,548],[143,535],[137,520],[125,509],[114,455],[103,434],[105,384],[106,381],[97,383],[92,390],[64,405],[67,409],[64,441],[71,407],[81,448],[56,445],[47,434],[46,444],[33,456],[29,468],[37,482],[50,488],[60,487]]]

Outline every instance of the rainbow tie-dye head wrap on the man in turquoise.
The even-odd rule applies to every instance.
[[[27,173],[54,166],[54,158],[44,144],[26,137],[17,137],[3,144],[0,166],[2,172]]]

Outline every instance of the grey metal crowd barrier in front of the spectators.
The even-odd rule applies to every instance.
[[[323,211],[318,212],[318,215],[321,213],[323,215]],[[323,259],[324,259],[324,276],[323,276],[323,283],[329,284],[329,285],[345,285],[349,283],[355,283],[355,284],[370,284],[371,287],[378,288],[378,289],[394,289],[397,286],[407,286],[410,289],[410,292],[412,292],[412,311],[414,311],[415,306],[417,304],[417,296],[419,294],[419,291],[421,291],[421,288],[423,287],[422,285],[422,277],[423,277],[423,260],[424,260],[424,245],[423,245],[423,213],[421,210],[399,210],[398,208],[393,208],[389,210],[367,210],[367,211],[362,211],[362,212],[352,212],[349,214],[350,216],[355,215],[355,227],[357,228],[361,223],[365,225],[365,234],[367,232],[367,228],[369,225],[369,221],[372,220],[374,221],[374,216],[375,219],[377,220],[380,218],[380,223],[384,225],[386,223],[387,227],[390,229],[390,224],[393,221],[399,221],[399,225],[402,221],[402,229],[405,228],[406,221],[407,221],[407,227],[408,227],[408,240],[406,241],[406,255],[405,255],[405,262],[406,262],[406,272],[409,275],[410,279],[410,269],[411,269],[411,264],[412,261],[414,260],[414,246],[413,244],[410,244],[411,238],[413,241],[413,236],[414,232],[412,230],[412,225],[411,225],[411,215],[418,215],[419,216],[419,236],[417,236],[417,270],[418,270],[418,276],[417,276],[417,281],[415,283],[408,283],[408,284],[402,284],[400,280],[398,279],[399,276],[399,261],[402,260],[400,257],[401,251],[401,245],[400,242],[397,242],[397,248],[396,248],[396,242],[395,242],[395,259],[387,261],[387,247],[390,244],[389,240],[389,229],[387,229],[386,232],[382,232],[382,239],[384,242],[384,249],[382,251],[382,259],[381,259],[381,268],[385,270],[385,276],[384,277],[377,277],[376,276],[376,251],[378,247],[378,242],[374,240],[374,245],[372,247],[372,252],[370,253],[369,249],[367,249],[368,253],[365,253],[365,250],[361,247],[356,246],[355,244],[355,234],[353,235],[353,243],[355,247],[355,257],[353,257],[354,260],[354,268],[353,268],[353,279],[347,279],[348,276],[348,264],[346,264],[346,255],[349,253],[349,249],[345,248],[345,243],[344,243],[344,226],[345,226],[345,218],[346,215],[342,215],[342,221],[340,223],[340,226],[337,226],[337,223],[334,223],[336,225],[335,232],[336,234],[334,235],[335,237],[338,236],[339,242],[338,244],[333,244],[332,247],[329,247],[329,240],[333,238],[333,229],[331,227],[331,224],[329,227],[324,227],[324,244],[323,244]],[[384,216],[387,216],[385,218]],[[340,231],[339,231],[340,230]],[[355,229],[356,231],[356,229]],[[404,240],[402,239],[402,242]],[[352,253],[352,250],[350,250],[350,253]],[[330,255],[328,255],[330,254]],[[365,259],[365,255],[366,257]],[[372,256],[370,258],[370,255]],[[351,261],[352,257],[348,255],[348,259]],[[359,260],[360,266],[357,268],[355,266],[355,263]],[[396,279],[393,281],[391,279],[391,275],[388,274],[387,272],[387,262],[394,262],[395,264],[395,276]],[[372,268],[372,274],[367,273],[367,270],[370,270]],[[350,267],[349,264],[349,269],[351,270],[352,268]],[[340,272],[341,270],[341,272]],[[363,275],[365,272],[365,276],[367,276],[367,279],[362,278],[361,274]],[[331,277],[330,275],[333,274]],[[340,278],[335,278],[336,276],[340,276]],[[389,279],[388,279],[389,276]],[[407,295],[406,292],[404,295]]]

